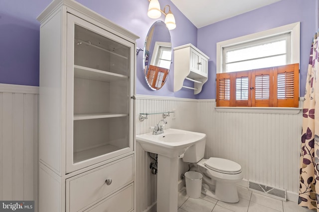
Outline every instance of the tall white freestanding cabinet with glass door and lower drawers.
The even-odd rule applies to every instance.
[[[39,211],[108,207],[122,190],[132,211],[138,37],[74,0],[38,20]]]

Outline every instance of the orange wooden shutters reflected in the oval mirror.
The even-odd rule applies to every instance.
[[[160,88],[166,79],[167,73],[168,73],[168,69],[150,65],[150,68],[147,74],[147,79],[149,81],[149,84],[153,88]]]

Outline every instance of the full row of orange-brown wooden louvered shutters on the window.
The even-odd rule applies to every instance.
[[[217,73],[217,107],[298,107],[299,64]]]

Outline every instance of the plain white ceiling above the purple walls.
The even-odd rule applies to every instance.
[[[280,0],[171,0],[197,27],[275,3]],[[174,13],[172,11],[172,13]],[[178,23],[177,23],[178,24]]]

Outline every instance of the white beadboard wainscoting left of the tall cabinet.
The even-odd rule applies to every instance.
[[[38,87],[0,84],[0,200],[36,200],[38,100]]]

